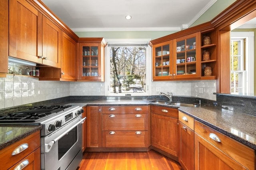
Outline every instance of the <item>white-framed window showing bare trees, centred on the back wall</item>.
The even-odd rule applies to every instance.
[[[107,39],[106,96],[149,95],[151,48],[147,39]]]

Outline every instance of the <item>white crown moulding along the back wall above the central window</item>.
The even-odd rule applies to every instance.
[[[74,32],[97,31],[180,31],[180,27],[134,27],[134,28],[71,28]]]

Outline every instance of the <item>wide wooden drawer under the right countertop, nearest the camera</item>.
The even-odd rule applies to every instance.
[[[236,160],[238,163],[243,165],[249,170],[255,169],[255,150],[251,149],[238,141],[204,125],[198,121],[195,122],[195,133],[200,135],[203,139],[208,141],[210,144],[214,145],[226,155],[230,156],[232,159]],[[215,141],[210,137],[215,137],[215,139],[220,139],[220,141]]]

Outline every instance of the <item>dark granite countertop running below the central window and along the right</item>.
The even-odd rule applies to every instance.
[[[107,105],[158,105],[178,108],[209,127],[223,133],[236,141],[256,150],[256,117],[227,108],[202,104],[201,107],[176,107],[165,104],[153,104],[149,100],[73,100],[59,104],[74,106],[107,106]]]

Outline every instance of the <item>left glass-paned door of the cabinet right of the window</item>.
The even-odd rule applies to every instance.
[[[172,78],[172,40],[153,45],[153,80]]]

